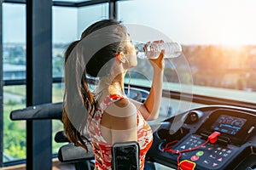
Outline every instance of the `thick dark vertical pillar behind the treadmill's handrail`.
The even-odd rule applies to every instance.
[[[26,106],[52,98],[52,1],[26,0]],[[52,168],[51,121],[26,121],[26,169]]]

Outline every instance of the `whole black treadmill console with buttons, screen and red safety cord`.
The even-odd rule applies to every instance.
[[[256,111],[210,107],[198,112],[203,112],[199,122],[183,123],[183,127],[172,135],[168,133],[168,128],[173,119],[166,120],[170,126],[162,126],[154,133],[154,144],[148,155],[152,154],[153,159],[168,167],[177,165],[178,159],[180,162],[190,161],[198,170],[236,169],[239,161],[255,156],[252,150],[256,148]],[[208,136],[214,132],[220,133],[217,142],[206,143]],[[166,148],[172,151],[166,151]]]

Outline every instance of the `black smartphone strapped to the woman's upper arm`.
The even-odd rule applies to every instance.
[[[140,147],[137,142],[115,143],[112,147],[113,170],[139,170]]]

